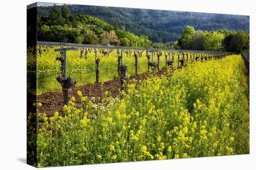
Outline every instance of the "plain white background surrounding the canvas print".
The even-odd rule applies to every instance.
[[[26,162],[26,6],[34,0],[3,0],[0,5],[0,169],[30,170]],[[83,5],[119,6],[250,15],[250,154],[178,160],[81,165],[54,170],[255,169],[255,17],[253,0],[47,0]],[[48,168],[46,168],[48,169]]]

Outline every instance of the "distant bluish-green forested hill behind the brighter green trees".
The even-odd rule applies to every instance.
[[[249,33],[249,16],[213,13],[191,13],[164,10],[119,8],[106,6],[67,5],[73,14],[91,15],[115,25],[121,30],[147,35],[153,42],[174,42],[183,28],[191,25],[195,30],[217,29]],[[53,6],[40,6],[39,16],[47,17]]]

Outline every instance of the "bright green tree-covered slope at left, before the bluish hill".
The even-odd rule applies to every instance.
[[[147,36],[137,36],[120,30],[101,19],[76,14],[66,6],[52,6],[47,17],[38,14],[38,40],[83,44],[109,44],[118,41],[122,46],[151,47]]]

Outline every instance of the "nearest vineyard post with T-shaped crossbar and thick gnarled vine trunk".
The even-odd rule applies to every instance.
[[[71,77],[66,78],[67,50],[74,50],[74,47],[60,48],[60,49],[54,50],[54,51],[61,51],[61,53],[63,52],[63,57],[61,56],[56,58],[56,60],[61,61],[62,75],[57,77],[56,80],[59,83],[61,83],[62,92],[63,92],[63,105],[68,105],[68,101],[70,101],[70,98],[71,98],[71,89],[74,87],[76,83],[73,78]]]

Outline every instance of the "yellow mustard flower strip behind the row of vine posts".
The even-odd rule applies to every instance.
[[[28,68],[33,65],[37,66],[37,93],[56,92],[61,91],[61,85],[56,81],[58,72],[60,72],[61,63],[56,60],[56,57],[60,57],[60,52],[55,52],[54,49],[58,47],[46,48],[42,47],[42,54],[37,51],[37,59],[34,60],[32,53],[28,53]],[[117,56],[121,55],[121,51],[118,54],[117,50],[109,52],[108,55],[104,55],[101,49],[97,49],[96,57],[100,59],[100,82],[109,81],[118,78],[117,71]],[[107,51],[106,51],[107,52]],[[160,57],[160,69],[166,68],[165,53],[162,52]],[[152,55],[151,53],[149,53]],[[172,56],[168,55],[168,59],[172,59]],[[180,56],[181,58],[182,56]],[[178,65],[178,54],[174,54],[174,66]],[[152,59],[150,58],[150,61]],[[36,63],[34,63],[36,62]],[[153,62],[157,62],[156,54],[153,56]],[[134,51],[123,51],[122,63],[128,66],[128,76],[135,75],[135,57]],[[29,72],[29,70],[27,70]],[[58,72],[57,72],[58,71]],[[138,57],[138,74],[148,71],[148,59],[146,57],[146,50],[141,51],[141,56]],[[67,51],[67,76],[71,76],[77,82],[77,86],[81,86],[88,83],[95,82],[95,50],[88,50],[87,56],[85,52],[82,54],[81,49]]]

